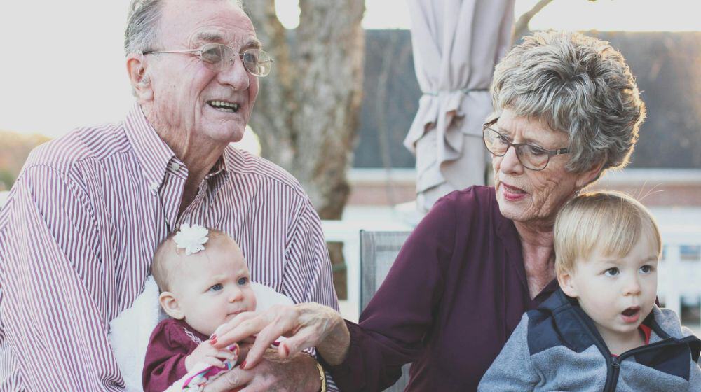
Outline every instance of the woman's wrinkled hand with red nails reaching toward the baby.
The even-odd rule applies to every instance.
[[[216,332],[216,348],[255,336],[255,342],[241,364],[250,369],[263,358],[265,350],[280,336],[280,358],[290,358],[304,349],[316,350],[330,365],[338,365],[348,355],[351,334],[341,314],[314,302],[296,305],[276,305],[262,313],[238,314]]]

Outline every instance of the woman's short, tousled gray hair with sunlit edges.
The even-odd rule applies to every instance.
[[[491,94],[504,109],[569,134],[566,169],[627,165],[645,118],[635,79],[608,42],[575,32],[524,38],[496,66]]]

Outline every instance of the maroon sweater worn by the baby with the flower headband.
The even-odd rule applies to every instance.
[[[185,357],[199,345],[196,340],[204,342],[207,339],[186,322],[175,318],[158,323],[151,333],[144,360],[144,392],[163,392],[187,374]]]

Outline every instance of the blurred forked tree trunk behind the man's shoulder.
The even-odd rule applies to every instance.
[[[245,1],[275,59],[260,80],[251,126],[262,155],[297,177],[322,219],[338,219],[350,193],[346,172],[362,99],[365,2],[300,0],[299,6],[291,46],[274,0]]]

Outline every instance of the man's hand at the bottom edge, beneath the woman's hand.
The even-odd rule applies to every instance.
[[[281,359],[275,350],[268,349],[256,367],[235,367],[208,384],[205,392],[226,392],[241,386],[245,388],[240,392],[318,392],[321,380],[316,361],[308,354]]]

